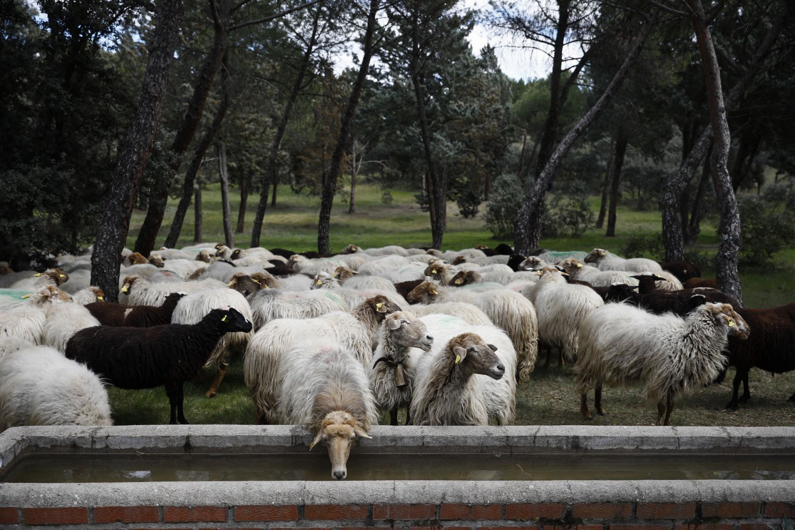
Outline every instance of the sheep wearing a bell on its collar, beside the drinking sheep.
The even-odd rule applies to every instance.
[[[408,407],[414,386],[415,373],[408,362],[409,349],[429,351],[433,337],[425,323],[408,312],[386,315],[378,328],[378,347],[370,366],[370,389],[381,408],[390,412],[390,424],[397,425],[397,408]],[[407,411],[408,412],[408,411]],[[406,416],[405,423],[411,421]]]

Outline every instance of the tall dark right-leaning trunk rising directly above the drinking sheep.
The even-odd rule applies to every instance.
[[[339,169],[342,167],[345,149],[348,145],[348,135],[351,133],[353,117],[356,107],[359,106],[359,97],[362,95],[362,87],[370,69],[370,58],[373,56],[373,33],[375,33],[375,15],[378,13],[378,0],[370,0],[370,10],[367,14],[367,29],[364,33],[364,46],[362,53],[362,63],[359,64],[359,73],[351,87],[351,96],[348,98],[342,120],[339,126],[339,137],[337,145],[332,154],[332,162],[329,165],[328,173],[325,176],[323,195],[320,199],[320,216],[317,222],[317,251],[321,254],[328,254],[328,229],[332,217],[332,204],[334,194],[337,189],[337,179]]]

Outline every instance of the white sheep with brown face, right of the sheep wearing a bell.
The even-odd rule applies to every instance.
[[[424,319],[427,322],[429,317]],[[432,329],[429,327],[431,334],[436,332]],[[509,389],[513,379],[510,366],[498,356],[500,346],[486,342],[475,329],[455,335],[440,350],[413,360],[420,374],[409,409],[413,424],[487,425],[490,416],[501,425],[513,420],[516,383]],[[507,337],[502,342],[503,347],[510,346]],[[413,352],[411,355],[414,359]],[[503,382],[491,385],[488,381]]]

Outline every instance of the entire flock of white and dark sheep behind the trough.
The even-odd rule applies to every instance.
[[[740,309],[687,262],[536,254],[125,250],[120,304],[89,285],[90,253],[35,275],[0,264],[0,431],[109,425],[107,384],[165,386],[171,423],[188,423],[184,381],[215,366],[211,397],[244,350],[258,423],[307,425],[343,479],[379,411],[392,424],[400,408],[407,424],[512,423],[539,347],[548,364],[553,348],[576,362],[585,419],[591,390],[605,412],[603,385],[642,381],[667,425],[676,398],[727,364],[737,367],[728,408],[750,397],[750,368],[795,369],[795,304]]]

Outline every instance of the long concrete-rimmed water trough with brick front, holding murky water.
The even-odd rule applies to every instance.
[[[16,427],[0,435],[0,528],[761,530],[795,515],[795,427],[370,434],[335,482],[297,426]]]

